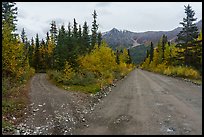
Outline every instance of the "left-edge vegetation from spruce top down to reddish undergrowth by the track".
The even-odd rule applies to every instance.
[[[25,39],[16,30],[16,7],[2,2],[2,127],[12,130],[28,103],[28,81],[35,70],[30,67]]]

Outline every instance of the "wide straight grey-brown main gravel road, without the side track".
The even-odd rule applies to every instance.
[[[74,134],[202,134],[202,86],[140,69],[117,82]]]

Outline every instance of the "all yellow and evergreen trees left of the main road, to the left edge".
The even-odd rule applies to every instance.
[[[57,29],[55,21],[50,24],[46,38],[28,40],[26,30],[20,36],[14,34],[17,21],[15,3],[4,2],[3,18],[3,78],[15,83],[28,80],[35,72],[48,72],[51,79],[65,85],[83,85],[91,79],[99,86],[111,84],[115,78],[132,70],[127,49],[114,52],[98,31],[97,13],[92,16],[91,32],[85,21],[81,26],[76,19]],[[11,16],[10,18],[7,16]],[[10,82],[8,82],[10,83]],[[5,87],[6,84],[4,84]]]

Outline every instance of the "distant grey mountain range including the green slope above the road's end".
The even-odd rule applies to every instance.
[[[202,20],[196,23],[199,30],[202,29]],[[135,33],[128,30],[118,30],[113,28],[110,31],[102,33],[102,38],[106,40],[112,49],[128,48],[133,63],[140,64],[146,57],[146,51],[150,49],[150,42],[157,45],[163,34],[167,35],[169,41],[175,41],[177,34],[182,30],[177,27],[171,31],[147,31]]]

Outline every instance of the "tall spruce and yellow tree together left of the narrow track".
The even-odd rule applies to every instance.
[[[30,68],[27,44],[20,40],[16,30],[17,7],[13,2],[2,2],[2,88],[3,94],[17,84],[26,82],[33,74]],[[6,84],[5,84],[6,83]]]

